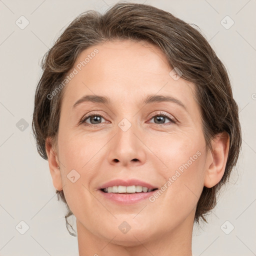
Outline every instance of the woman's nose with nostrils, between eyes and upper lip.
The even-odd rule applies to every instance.
[[[115,136],[108,144],[108,161],[112,165],[141,165],[145,162],[146,146],[141,131],[131,125],[127,130],[116,127]]]

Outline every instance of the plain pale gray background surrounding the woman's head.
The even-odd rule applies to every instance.
[[[34,92],[39,61],[66,25],[85,10],[104,12],[115,2],[0,0],[0,255],[78,255],[77,237],[65,228],[65,207],[57,201],[48,162],[38,155],[31,133]],[[256,255],[256,2],[134,2],[198,25],[226,66],[239,106],[242,152],[208,224],[194,227],[193,255]],[[24,29],[15,23],[21,15],[29,21]],[[228,29],[226,15],[234,21]],[[24,234],[21,220],[29,226]]]

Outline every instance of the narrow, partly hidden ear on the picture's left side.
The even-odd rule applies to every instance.
[[[62,180],[59,167],[59,161],[57,158],[56,150],[53,148],[52,139],[48,137],[45,141],[45,149],[48,157],[50,175],[52,178],[53,186],[57,190],[62,190]]]

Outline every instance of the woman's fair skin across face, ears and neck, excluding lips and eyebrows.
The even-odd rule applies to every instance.
[[[218,134],[213,151],[206,150],[194,84],[182,76],[174,80],[156,46],[105,42],[83,50],[74,67],[95,48],[99,52],[64,88],[57,147],[46,141],[53,185],[63,189],[76,217],[79,255],[190,256],[196,203],[203,186],[214,186],[224,173],[228,136]],[[72,107],[87,94],[108,96],[111,103]],[[174,102],[145,105],[149,94],[173,96],[186,109]],[[79,124],[92,111],[104,117],[93,127]],[[177,122],[167,117],[157,122],[153,116],[160,112]],[[131,124],[125,132],[118,126],[123,118]],[[115,178],[137,178],[160,188],[197,151],[200,156],[153,202],[118,205],[97,190]],[[72,169],[80,175],[74,183],[67,178]],[[123,221],[131,227],[125,234],[118,228]]]

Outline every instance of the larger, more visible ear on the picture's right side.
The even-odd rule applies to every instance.
[[[229,150],[229,135],[227,132],[217,134],[211,141],[212,151],[209,151],[209,160],[206,165],[204,186],[210,188],[222,178]]]

